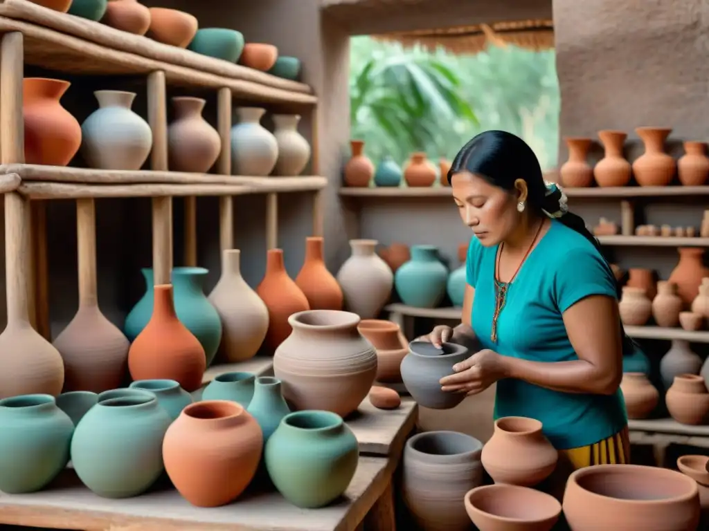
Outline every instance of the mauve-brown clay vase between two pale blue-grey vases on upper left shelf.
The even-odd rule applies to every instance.
[[[207,173],[221,152],[217,130],[202,117],[206,101],[181,96],[172,98],[175,119],[167,128],[171,171]]]

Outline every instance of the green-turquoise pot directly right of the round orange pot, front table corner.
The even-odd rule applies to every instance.
[[[266,468],[294,506],[320,508],[342,496],[357,470],[359,447],[342,417],[330,411],[286,415],[266,444]]]

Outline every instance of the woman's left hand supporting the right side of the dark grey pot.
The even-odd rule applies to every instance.
[[[505,357],[494,350],[480,350],[470,358],[453,365],[454,375],[440,379],[446,392],[478,394],[492,384],[507,377]]]

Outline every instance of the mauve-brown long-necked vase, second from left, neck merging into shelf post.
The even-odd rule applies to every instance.
[[[79,310],[54,346],[64,361],[64,390],[100,393],[121,387],[130,343],[99,309],[93,199],[77,199],[77,249]]]

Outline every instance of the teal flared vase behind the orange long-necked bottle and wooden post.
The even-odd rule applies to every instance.
[[[125,336],[131,343],[143,331],[152,316],[152,288],[155,286],[155,280],[152,269],[143,268],[140,272],[145,277],[147,290],[125,317],[123,326]],[[177,319],[199,340],[209,366],[221,342],[222,324],[216,309],[204,295],[202,284],[207,273],[205,268],[173,268],[172,286]]]

